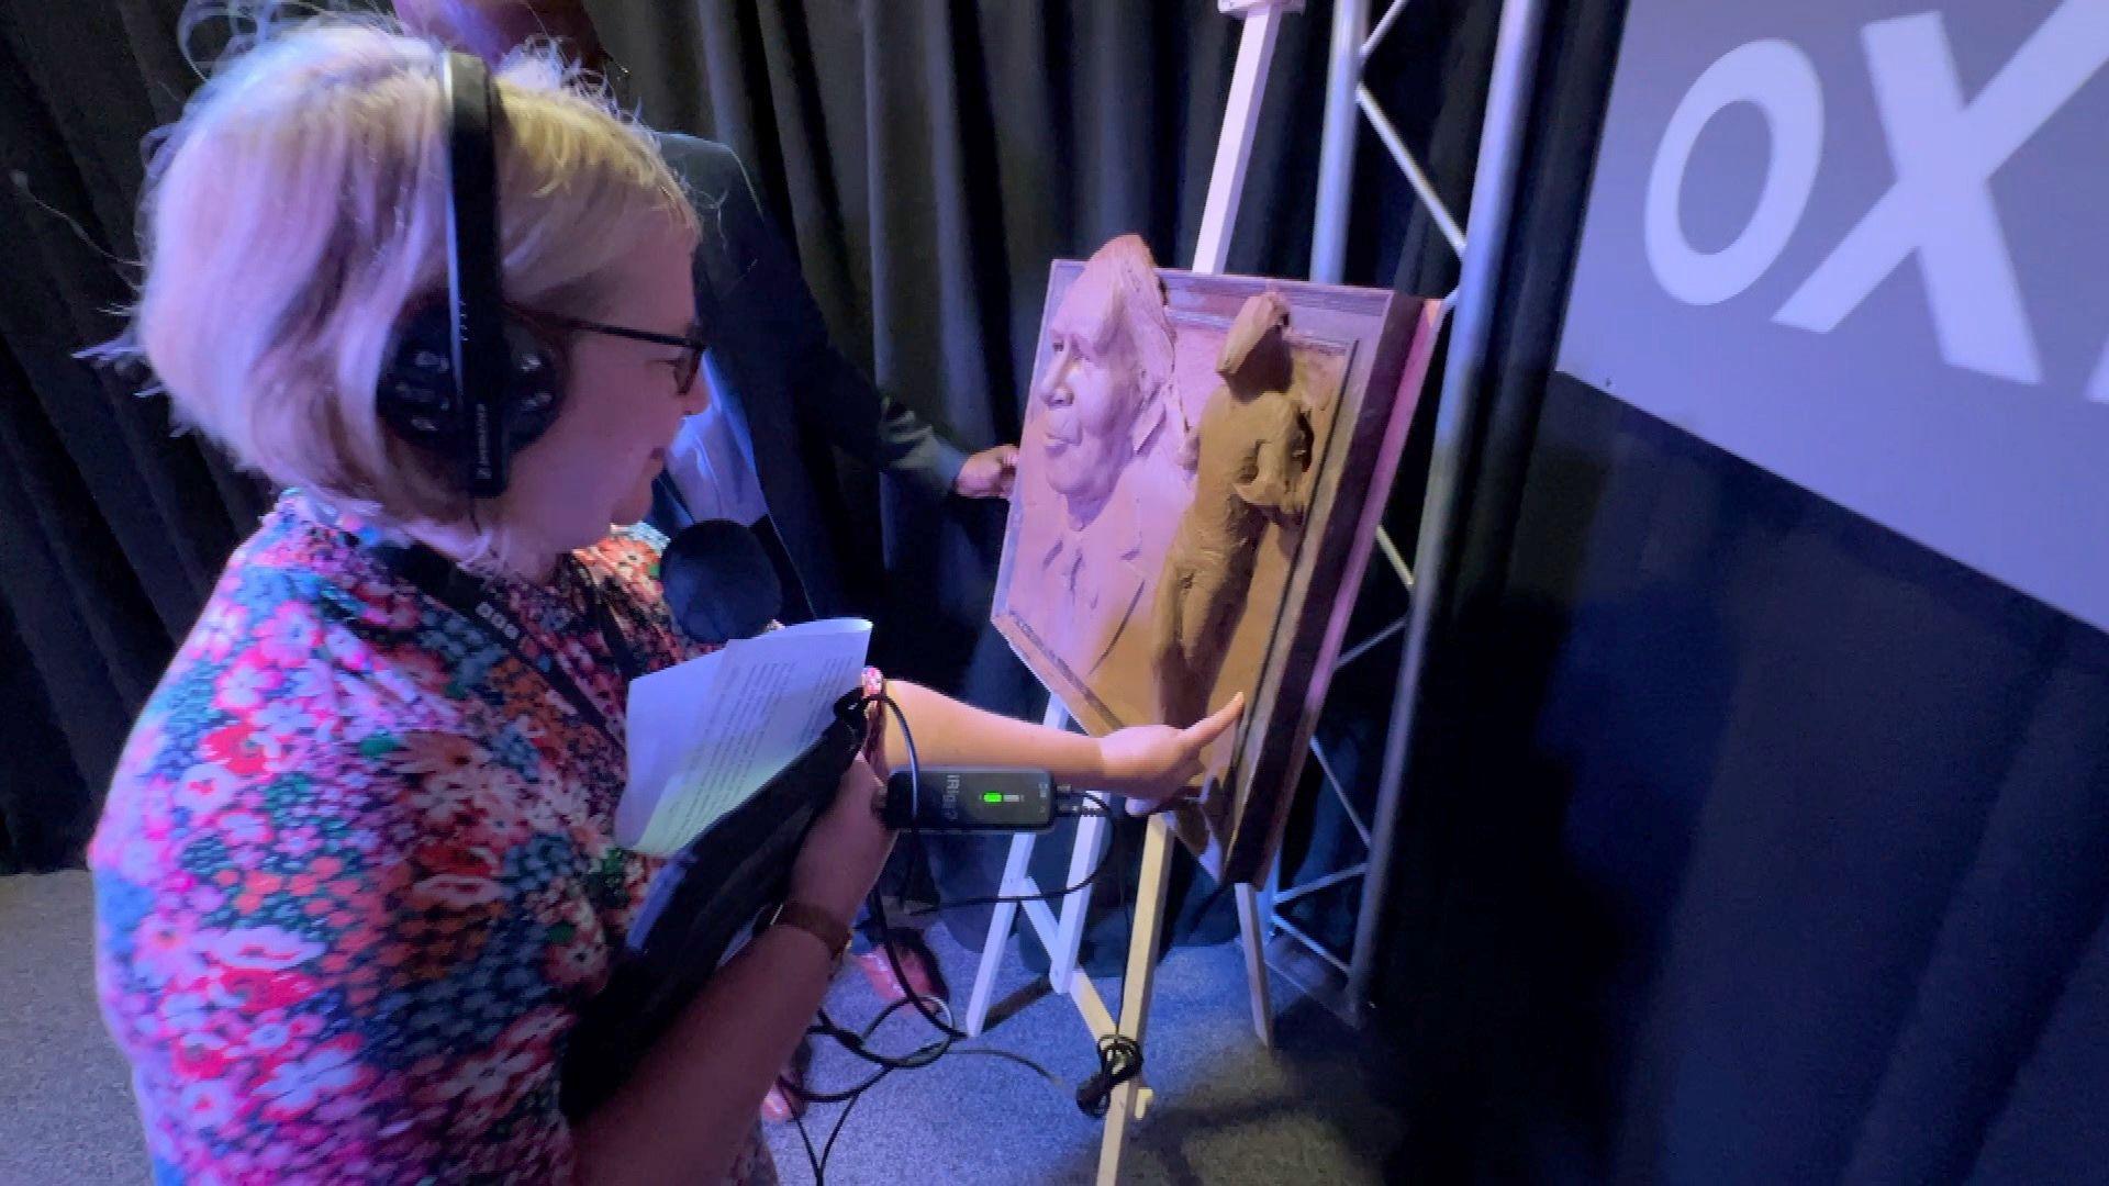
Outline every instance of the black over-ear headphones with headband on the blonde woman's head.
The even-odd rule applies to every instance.
[[[375,409],[405,441],[462,475],[470,498],[506,490],[512,454],[548,431],[563,403],[563,359],[506,308],[498,264],[498,122],[483,61],[445,57],[447,302],[413,312],[382,367]]]

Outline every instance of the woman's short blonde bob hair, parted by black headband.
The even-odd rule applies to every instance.
[[[447,291],[445,49],[373,19],[264,30],[165,131],[118,355],[177,422],[280,485],[392,521],[460,521],[458,477],[375,416],[399,323]],[[496,72],[506,300],[593,319],[616,260],[696,232],[647,131],[555,49]]]

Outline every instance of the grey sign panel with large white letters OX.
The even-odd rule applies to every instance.
[[[2109,629],[2109,0],[1632,0],[1563,371]]]

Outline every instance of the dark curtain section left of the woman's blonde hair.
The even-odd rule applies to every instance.
[[[72,357],[120,327],[141,137],[192,84],[179,8],[0,17],[0,872],[78,861],[133,711],[264,498],[137,380]]]

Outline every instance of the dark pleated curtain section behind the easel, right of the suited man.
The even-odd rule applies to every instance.
[[[1240,30],[1215,0],[593,8],[647,122],[740,154],[837,344],[966,445],[1017,439],[1052,260],[1130,230],[1160,264],[1192,260]],[[1476,131],[1476,84],[1445,110],[1440,70],[1472,4],[1415,8],[1373,84],[1409,141],[1434,137],[1449,162],[1451,127]],[[1232,270],[1310,266],[1329,21],[1312,4],[1284,23]],[[1459,200],[1466,173],[1451,175]],[[1367,133],[1354,232],[1350,283],[1390,283],[1405,262],[1447,287],[1447,247]],[[882,658],[1031,711],[987,627],[1002,509],[934,504],[863,473],[841,490],[867,542],[848,568],[886,627]]]

